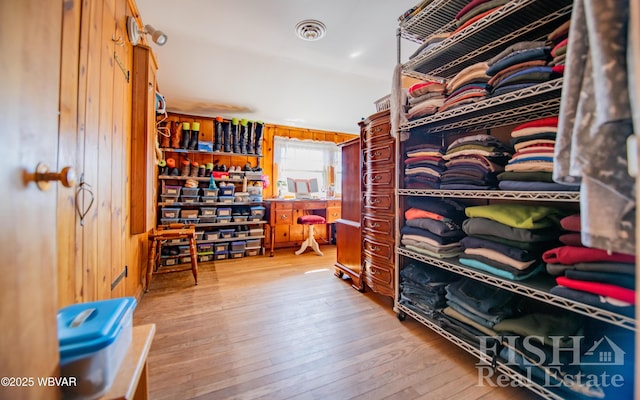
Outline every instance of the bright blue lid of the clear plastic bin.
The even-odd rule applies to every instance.
[[[122,330],[123,318],[136,307],[136,299],[73,304],[58,311],[60,361],[95,353],[112,344]]]

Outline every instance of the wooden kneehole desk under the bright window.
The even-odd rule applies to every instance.
[[[340,208],[340,199],[265,200],[265,213],[269,224],[269,230],[271,232],[271,250],[269,255],[273,257],[273,249],[275,248],[276,242],[276,227],[283,225],[296,225],[298,217],[304,214],[322,215],[327,220],[327,238],[329,239],[329,242],[331,242],[330,226],[340,219]],[[297,245],[300,245],[300,243]]]

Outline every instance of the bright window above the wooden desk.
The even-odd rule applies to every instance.
[[[342,153],[335,143],[276,136],[273,150],[278,181],[316,178],[321,192],[332,185],[340,190]]]

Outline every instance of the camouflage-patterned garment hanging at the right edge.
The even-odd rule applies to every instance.
[[[628,0],[574,1],[566,53],[554,179],[581,182],[582,241],[635,253],[633,133],[628,90]]]

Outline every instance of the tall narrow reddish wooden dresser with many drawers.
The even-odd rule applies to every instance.
[[[389,110],[362,127],[362,251],[364,280],[374,292],[394,296],[395,139]]]

